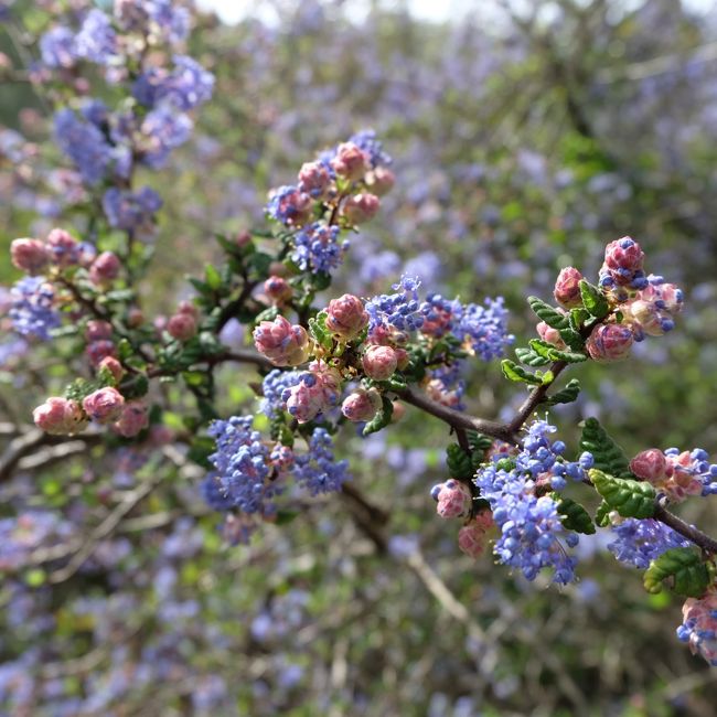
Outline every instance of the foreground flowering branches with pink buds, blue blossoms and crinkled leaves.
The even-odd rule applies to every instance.
[[[411,272],[386,281],[384,293],[335,291],[351,245],[402,182],[377,135],[361,130],[307,157],[293,184],[267,188],[266,224],[217,235],[222,258],[191,279],[193,293],[170,317],[148,315],[142,279],[162,199],[137,186],[136,173],[165,167],[214,86],[208,71],[179,54],[188,32],[189,14],[175,3],[116,2],[111,15],[83,9],[40,39],[35,82],[56,108],[55,141],[75,174],[83,221],[12,243],[11,261],[24,276],[8,292],[7,325],[31,347],[72,342],[82,360],[63,394],[34,408],[36,428],[66,445],[86,438],[125,451],[139,463],[129,472],[159,470],[158,457],[179,453],[202,471],[192,500],[201,496],[222,538],[236,545],[267,524],[301,520],[327,494],[356,500],[342,440],[388,432],[413,407],[450,429],[430,497],[454,522],[445,531],[460,552],[492,554],[527,580],[547,575],[565,586],[579,575],[581,536],[609,529],[607,550],[644,570],[649,592],[666,584],[686,598],[677,635],[715,665],[717,542],[672,506],[716,493],[717,464],[698,448],[645,448],[630,460],[596,418],[584,422],[571,453],[548,417],[580,396],[578,378],[558,385],[568,370],[579,373],[572,364],[625,361],[634,344],[678,331],[682,290],[648,272],[639,242],[611,240],[597,276],[575,267],[557,274],[558,306],[527,298],[536,338],[515,347],[502,297],[448,298]],[[97,82],[97,97],[85,75]],[[502,420],[465,410],[479,362],[496,371],[500,363],[516,390],[527,389]],[[239,375],[254,413],[222,411],[225,364],[258,373]],[[167,387],[181,387],[179,397]],[[133,488],[128,505],[150,490],[149,479]],[[125,516],[124,505],[113,520]],[[51,515],[8,518],[3,570],[34,565],[47,536],[72,535],[71,523]],[[174,549],[164,545],[157,556],[160,598],[181,592],[181,559],[194,549],[190,523],[173,531]],[[78,547],[68,560],[51,555],[40,564],[55,566],[51,581],[62,581],[93,557],[82,556]],[[191,622],[191,600],[169,604],[168,622]],[[124,609],[131,606],[118,606],[119,616]],[[149,684],[151,671],[135,677]]]

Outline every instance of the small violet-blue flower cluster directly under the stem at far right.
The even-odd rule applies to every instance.
[[[614,542],[608,544],[608,550],[620,563],[634,565],[641,569],[648,568],[651,560],[671,548],[685,548],[692,545],[671,527],[653,518],[639,521],[628,517],[619,525],[613,525],[612,532],[617,537]]]

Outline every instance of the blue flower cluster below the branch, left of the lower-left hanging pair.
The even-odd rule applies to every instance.
[[[254,416],[214,421],[208,434],[216,441],[216,451],[210,456],[210,461],[234,507],[244,513],[267,515],[276,511],[270,500],[281,489],[270,480],[269,449],[261,442],[261,434],[252,428]],[[215,491],[210,491],[208,495],[217,502]]]

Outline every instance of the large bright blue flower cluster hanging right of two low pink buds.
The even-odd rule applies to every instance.
[[[494,547],[500,561],[518,568],[528,580],[535,579],[542,568],[552,567],[553,580],[565,585],[572,580],[577,560],[568,556],[560,538],[572,547],[578,536],[563,526],[557,503],[548,495],[538,497],[535,488],[537,481],[545,483],[546,479],[554,483],[556,475],[570,474],[579,480],[584,469],[579,463],[563,462],[565,445],[547,437],[554,431],[555,427],[546,421],[534,421],[517,456],[502,460],[495,457],[479,469],[474,482],[491,504],[493,520],[501,529]]]

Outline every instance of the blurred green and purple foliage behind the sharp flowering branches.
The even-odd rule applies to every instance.
[[[0,24],[2,250],[78,221],[63,213],[47,108],[21,72],[51,4],[19,1]],[[649,270],[685,288],[686,310],[630,362],[575,370],[585,389],[555,411],[561,437],[576,448],[578,421],[598,416],[630,454],[715,454],[717,10],[506,0],[435,23],[400,4],[375,2],[361,21],[351,1],[260,4],[275,22],[195,18],[190,52],[217,84],[193,141],[141,178],[165,207],[148,310],[189,296],[184,275],[218,257],[215,232],[261,224],[269,188],[373,127],[397,184],[332,293],[383,292],[415,272],[465,301],[504,296],[527,338],[525,297],[548,298],[563,266],[596,277],[604,244],[629,234]],[[0,280],[15,276],[0,263]],[[32,361],[50,366],[50,386],[66,379],[51,354]],[[0,373],[8,419],[26,420],[44,395],[36,373]],[[221,375],[222,413],[252,406],[255,377]],[[496,365],[477,365],[469,385],[480,416],[506,417],[523,397]],[[181,456],[96,448],[3,482],[8,515],[21,503],[54,516],[29,528],[46,528],[47,545],[96,543],[64,580],[23,567],[3,584],[0,657],[24,665],[0,666],[8,714],[714,715],[717,678],[674,636],[679,606],[648,597],[604,552],[609,536],[584,541],[581,579],[564,590],[490,556],[474,564],[428,497],[447,475],[443,426],[409,409],[370,440],[347,432],[343,456],[371,505],[317,501],[248,548],[222,545]],[[159,490],[129,528],[96,535],[103,501],[137,491],[142,462]],[[703,503],[683,515],[714,533]],[[24,711],[11,679],[32,695]]]

